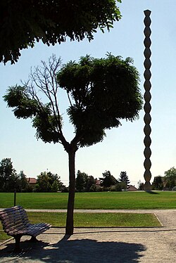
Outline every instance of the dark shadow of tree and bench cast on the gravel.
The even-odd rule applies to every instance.
[[[3,261],[3,257],[4,259],[8,257],[8,260],[20,259],[31,260],[32,262],[39,260],[49,263],[139,262],[139,259],[143,256],[142,252],[146,250],[146,247],[140,243],[99,242],[88,238],[75,240],[69,238],[69,236],[64,236],[58,243],[40,242],[30,245],[30,247],[28,243],[28,247],[18,254],[9,253],[9,249],[13,249],[13,244],[8,244],[4,250],[0,250],[0,261],[6,262]],[[22,242],[21,247],[24,248],[24,246],[25,242]]]

